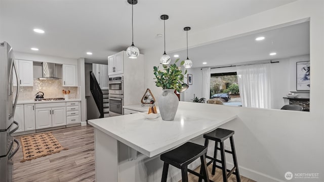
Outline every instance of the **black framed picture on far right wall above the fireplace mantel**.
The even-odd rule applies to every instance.
[[[310,61],[296,63],[296,90],[310,90]]]

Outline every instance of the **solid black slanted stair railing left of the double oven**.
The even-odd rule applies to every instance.
[[[96,102],[97,108],[100,112],[100,118],[104,117],[104,113],[103,113],[103,96],[102,96],[102,91],[101,88],[99,86],[99,83],[96,79],[95,74],[90,71],[90,90],[91,90],[91,94]]]

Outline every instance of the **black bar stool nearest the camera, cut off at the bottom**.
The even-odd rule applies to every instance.
[[[162,179],[161,181],[167,181],[169,164],[181,169],[182,181],[188,181],[188,173],[204,178],[205,182],[209,182],[208,171],[206,165],[206,153],[207,147],[187,142],[182,146],[166,152],[160,156],[160,159],[164,161]],[[188,169],[188,165],[194,160],[200,157],[201,170],[200,174]]]

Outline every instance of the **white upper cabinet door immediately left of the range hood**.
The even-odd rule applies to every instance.
[[[34,85],[32,61],[19,60],[19,82],[20,86]]]

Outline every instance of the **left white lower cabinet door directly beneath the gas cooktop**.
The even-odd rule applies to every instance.
[[[36,129],[52,127],[52,109],[36,109],[35,110]]]

